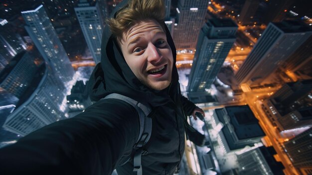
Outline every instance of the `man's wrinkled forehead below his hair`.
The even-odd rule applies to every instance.
[[[139,21],[135,25],[133,25],[128,31],[123,34],[123,41],[128,42],[129,39],[134,38],[136,36],[144,35],[146,33],[156,34],[163,33],[162,27],[155,20],[144,20]]]

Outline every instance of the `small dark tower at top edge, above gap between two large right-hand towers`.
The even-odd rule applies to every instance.
[[[254,15],[258,9],[260,0],[246,0],[238,19],[243,25],[254,21]]]

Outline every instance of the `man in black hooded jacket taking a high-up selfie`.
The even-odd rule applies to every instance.
[[[110,175],[114,169],[132,175],[133,160],[127,160],[139,136],[139,116],[127,102],[101,100],[111,93],[152,107],[143,175],[172,175],[184,152],[185,114],[204,112],[180,94],[163,16],[162,0],[121,2],[108,20],[102,60],[90,78],[90,97],[97,102],[1,149],[1,175]]]

